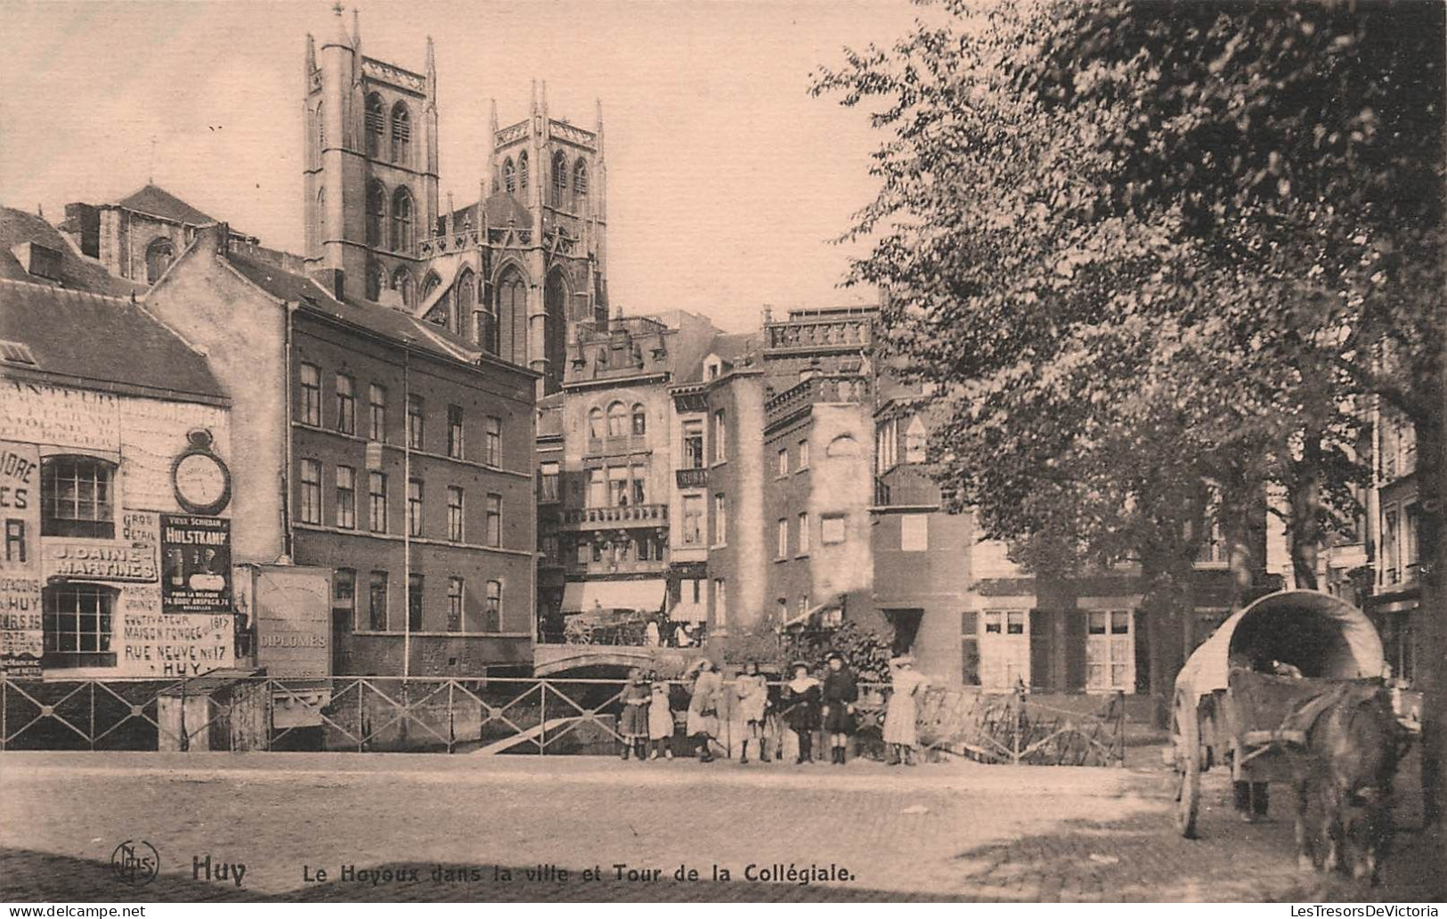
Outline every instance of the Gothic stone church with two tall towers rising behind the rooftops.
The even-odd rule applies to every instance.
[[[437,65],[369,58],[349,32],[307,38],[305,262],[333,289],[404,308],[561,388],[580,323],[606,323],[606,165],[592,130],[548,113],[499,127],[492,103],[478,200],[438,201]]]

